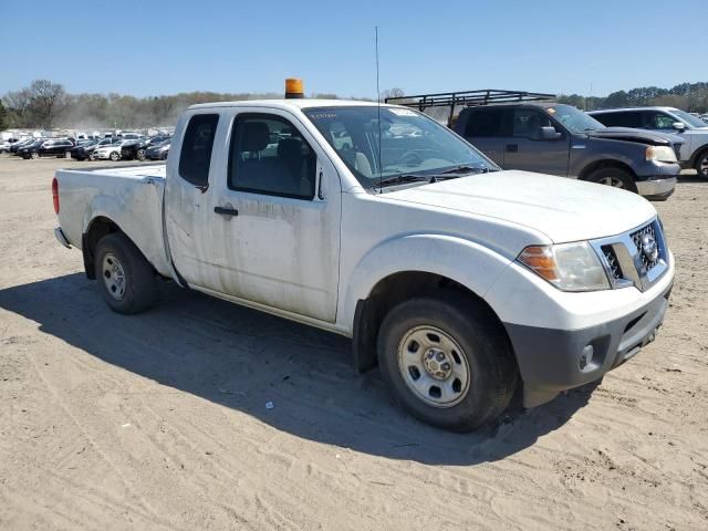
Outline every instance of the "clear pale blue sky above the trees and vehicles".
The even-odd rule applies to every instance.
[[[31,11],[31,13],[30,13]],[[190,91],[606,95],[708,81],[708,0],[0,0],[0,95]],[[592,92],[591,92],[592,87]]]

